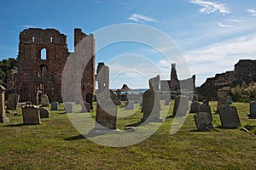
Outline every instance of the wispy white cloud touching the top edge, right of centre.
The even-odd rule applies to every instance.
[[[230,9],[226,7],[224,3],[216,3],[211,1],[203,1],[203,0],[190,0],[190,3],[195,3],[202,8],[199,10],[203,14],[212,14],[212,13],[220,13],[220,14],[230,14]]]

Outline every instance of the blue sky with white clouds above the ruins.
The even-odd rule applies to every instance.
[[[199,86],[207,77],[233,70],[239,59],[256,58],[255,21],[255,0],[0,0],[0,59],[17,56],[19,33],[29,27],[61,31],[73,51],[76,27],[89,34],[114,24],[139,23],[165,32],[176,42]],[[112,75],[111,88],[123,83],[148,88],[147,78],[159,74],[151,64],[145,68],[143,59],[137,67],[145,69],[131,71],[135,63],[117,59],[120,55],[129,58],[127,54],[148,57],[160,67],[161,79],[169,77],[171,63],[161,54],[143,44],[117,43],[96,54],[96,62],[104,61],[110,71],[119,72]],[[125,74],[125,70],[130,72]],[[147,72],[151,74],[145,77]]]

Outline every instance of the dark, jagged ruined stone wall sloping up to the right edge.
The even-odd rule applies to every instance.
[[[235,65],[234,71],[226,71],[207,78],[201,87],[196,88],[199,99],[218,99],[218,89],[236,87],[243,82],[247,84],[256,82],[256,60],[240,59]]]

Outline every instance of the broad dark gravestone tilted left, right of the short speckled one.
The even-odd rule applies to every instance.
[[[222,127],[236,128],[241,126],[235,106],[221,105],[219,107],[219,118]]]

